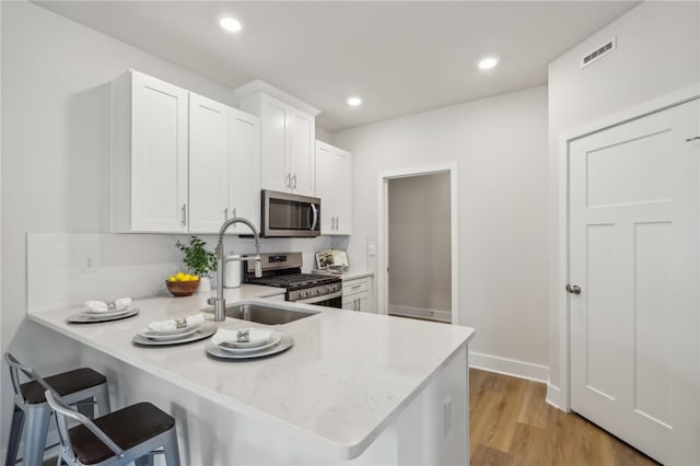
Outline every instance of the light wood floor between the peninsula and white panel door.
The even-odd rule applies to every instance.
[[[545,384],[469,370],[470,466],[651,466],[584,418],[545,403]]]

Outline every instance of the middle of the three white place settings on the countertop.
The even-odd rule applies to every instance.
[[[183,318],[151,322],[132,340],[138,346],[168,346],[198,341],[217,331],[217,326],[206,322],[201,313]]]

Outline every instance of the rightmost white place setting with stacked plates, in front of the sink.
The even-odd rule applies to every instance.
[[[222,359],[250,359],[277,354],[294,345],[288,334],[262,327],[219,329],[211,337],[207,353]]]

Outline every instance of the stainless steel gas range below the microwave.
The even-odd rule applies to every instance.
[[[342,307],[342,280],[326,275],[302,273],[302,253],[260,254],[262,277],[255,278],[255,264],[245,264],[245,281],[287,289],[287,301]]]

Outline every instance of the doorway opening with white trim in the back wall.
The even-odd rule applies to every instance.
[[[378,307],[456,324],[456,166],[380,176]]]

